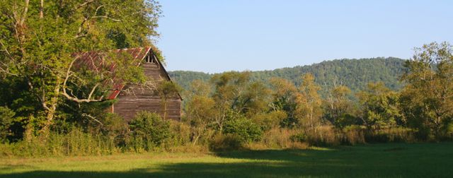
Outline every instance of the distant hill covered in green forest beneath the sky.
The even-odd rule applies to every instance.
[[[292,68],[275,69],[272,71],[252,71],[253,81],[268,81],[272,77],[286,78],[297,85],[300,76],[312,73],[316,83],[323,88],[330,88],[334,83],[347,85],[352,91],[365,88],[369,82],[382,81],[387,87],[398,90],[401,88],[399,78],[405,70],[403,59],[394,57],[372,59],[336,59],[323,61],[319,64],[295,66]],[[171,71],[171,78],[184,89],[195,79],[208,81],[212,74],[195,71]]]

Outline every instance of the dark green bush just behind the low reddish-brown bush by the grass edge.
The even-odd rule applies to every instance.
[[[260,126],[246,118],[226,121],[223,132],[239,136],[239,140],[243,143],[259,141],[263,136]]]

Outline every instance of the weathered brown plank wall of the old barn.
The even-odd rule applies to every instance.
[[[156,63],[142,64],[144,73],[150,81],[168,80],[164,70]],[[113,112],[119,114],[126,121],[130,121],[137,112],[149,111],[161,114],[164,117],[164,106],[159,95],[152,90],[130,86],[130,92],[122,92],[117,96],[117,102],[113,105]],[[180,119],[181,100],[174,96],[167,100],[167,118]]]

